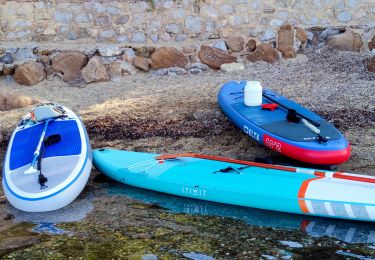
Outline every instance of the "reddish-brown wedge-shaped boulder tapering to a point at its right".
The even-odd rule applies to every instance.
[[[224,51],[220,51],[216,48],[211,48],[207,45],[202,45],[199,50],[198,57],[202,63],[206,64],[210,68],[220,69],[220,66],[225,63],[236,62],[237,58],[227,54]]]

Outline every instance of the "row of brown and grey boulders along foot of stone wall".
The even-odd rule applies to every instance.
[[[317,53],[327,49],[368,53],[365,66],[374,72],[375,57],[371,53],[375,50],[375,35],[366,37],[362,39],[350,27],[307,31],[285,23],[275,37],[265,41],[230,36],[209,44],[174,46],[82,45],[70,50],[62,46],[45,48],[42,44],[12,46],[0,48],[0,75],[12,76],[18,84],[27,86],[54,77],[80,86],[149,71],[155,75],[199,74],[208,69],[231,72],[243,70],[244,63],[294,59],[306,49]]]

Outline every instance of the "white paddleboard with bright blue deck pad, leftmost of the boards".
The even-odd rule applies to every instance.
[[[92,167],[89,138],[70,109],[37,106],[14,130],[3,167],[3,189],[15,208],[44,212],[71,203]]]

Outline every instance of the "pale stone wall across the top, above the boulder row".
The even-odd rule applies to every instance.
[[[183,42],[228,36],[276,38],[302,28],[375,27],[373,0],[0,0],[0,41]]]

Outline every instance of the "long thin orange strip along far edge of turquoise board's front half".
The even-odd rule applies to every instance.
[[[178,153],[178,154],[165,154],[159,155],[155,159],[157,160],[168,160],[168,159],[176,159],[178,157],[191,157],[191,158],[199,158],[199,159],[207,159],[212,161],[220,161],[220,162],[229,162],[229,163],[237,163],[249,166],[256,166],[266,169],[274,169],[274,170],[281,170],[281,171],[288,171],[288,172],[296,172],[297,169],[294,167],[286,167],[286,166],[279,166],[279,165],[272,165],[272,164],[265,164],[265,163],[256,163],[256,162],[248,162],[224,157],[217,157],[211,155],[204,155],[204,154],[196,154],[196,153]]]

